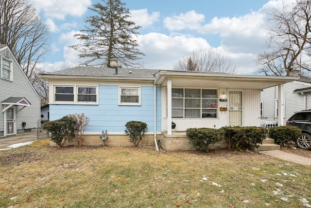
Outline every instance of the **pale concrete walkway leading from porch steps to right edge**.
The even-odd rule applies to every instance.
[[[299,156],[292,153],[287,153],[280,150],[268,150],[268,151],[259,151],[262,154],[270,155],[285,161],[298,163],[305,166],[311,166],[311,158]]]

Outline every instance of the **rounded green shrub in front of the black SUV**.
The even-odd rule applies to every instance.
[[[295,142],[301,136],[301,133],[301,130],[296,126],[278,126],[269,129],[271,138],[282,147],[288,145],[291,141]]]

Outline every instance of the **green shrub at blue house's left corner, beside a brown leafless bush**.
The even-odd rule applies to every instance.
[[[50,134],[50,140],[55,142],[58,148],[63,147],[67,140],[74,138],[75,122],[71,116],[66,115],[54,121],[47,121],[43,125]]]

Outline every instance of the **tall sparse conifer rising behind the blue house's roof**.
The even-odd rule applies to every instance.
[[[71,48],[78,51],[80,58],[86,58],[83,64],[90,66],[110,66],[110,59],[117,58],[123,66],[140,67],[137,62],[144,54],[138,49],[133,36],[138,35],[140,26],[130,21],[130,12],[120,0],[102,0],[104,5],[96,3],[92,8],[95,16],[85,19],[89,25],[76,34],[81,44]]]

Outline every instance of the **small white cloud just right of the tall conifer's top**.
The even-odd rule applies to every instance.
[[[157,22],[160,17],[159,12],[153,12],[151,15],[148,14],[147,9],[131,10],[131,20],[135,22],[136,25],[141,27],[148,27],[154,22]]]

